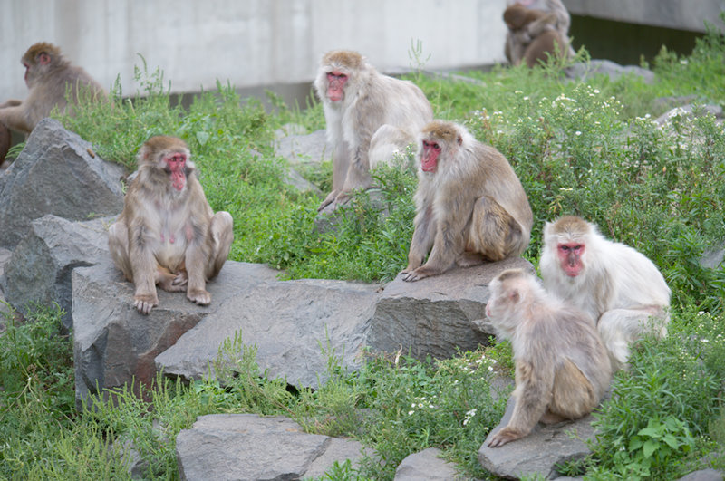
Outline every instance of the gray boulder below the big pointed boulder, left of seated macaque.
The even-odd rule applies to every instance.
[[[15,247],[0,279],[5,298],[26,314],[31,303],[58,303],[65,314],[63,327],[73,327],[71,273],[75,267],[109,259],[108,226],[113,217],[71,222],[46,215]]]

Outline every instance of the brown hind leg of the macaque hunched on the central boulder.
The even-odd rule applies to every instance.
[[[491,197],[478,198],[473,207],[467,253],[480,253],[485,260],[500,261],[508,255],[521,254],[521,237],[521,227],[504,207]]]

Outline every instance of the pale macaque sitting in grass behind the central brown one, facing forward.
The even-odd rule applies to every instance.
[[[433,119],[430,102],[412,82],[382,75],[360,53],[325,53],[314,80],[333,145],[333,191],[319,210],[370,188],[370,170],[415,142]]]

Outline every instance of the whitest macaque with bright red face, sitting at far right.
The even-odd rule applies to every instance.
[[[626,367],[629,343],[645,331],[667,335],[670,288],[650,259],[607,240],[596,226],[564,216],[544,226],[539,263],[546,290],[589,313],[613,370]]]

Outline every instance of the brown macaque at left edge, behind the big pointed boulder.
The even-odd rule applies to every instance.
[[[5,126],[29,134],[40,120],[50,115],[53,107],[66,110],[68,89],[73,103],[78,101],[82,90],[86,90],[92,99],[106,98],[101,84],[82,67],[66,60],[52,43],[35,43],[24,53],[21,62],[25,67],[28,96],[24,101],[9,100],[0,104],[0,130]],[[5,146],[5,142],[8,145]],[[9,147],[9,136],[3,133],[0,135],[0,163]]]

